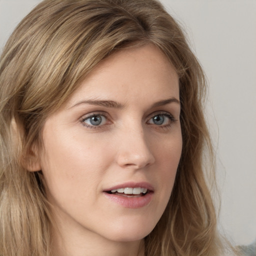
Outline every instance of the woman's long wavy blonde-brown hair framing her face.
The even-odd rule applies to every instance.
[[[213,173],[213,157],[205,78],[180,25],[156,0],[44,0],[0,56],[0,255],[51,255],[47,198],[38,172],[25,167],[37,157],[33,145],[43,146],[45,119],[93,67],[115,51],[146,44],[160,49],[179,76],[183,145],[167,207],[145,237],[145,255],[219,254],[206,174]]]

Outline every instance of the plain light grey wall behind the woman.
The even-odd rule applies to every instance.
[[[39,0],[0,0],[0,50]],[[209,81],[207,118],[217,153],[220,228],[256,238],[256,0],[161,0],[184,27]]]

